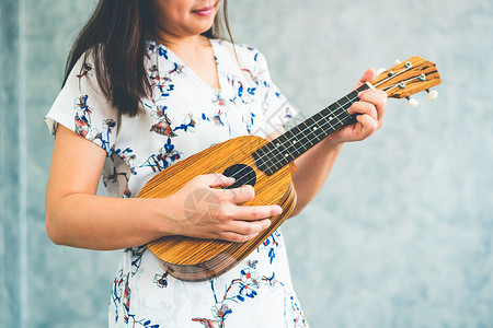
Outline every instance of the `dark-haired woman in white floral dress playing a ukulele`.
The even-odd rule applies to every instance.
[[[294,113],[262,54],[218,38],[220,5],[101,0],[72,47],[64,87],[46,117],[56,132],[46,194],[49,237],[73,247],[126,249],[111,294],[111,327],[307,326],[279,231],[206,282],[168,276],[141,246],[165,235],[244,242],[282,211],[238,206],[253,199],[253,188],[215,188],[233,183],[220,174],[197,176],[167,198],[135,198],[156,173],[213,144],[249,133],[275,138]],[[374,75],[368,70],[359,84]],[[293,214],[319,191],[344,142],[381,127],[386,94],[358,96],[348,109],[357,122],[297,160]],[[101,175],[113,197],[96,196]],[[220,211],[198,202],[205,220],[187,220],[185,199],[200,189],[215,195]]]

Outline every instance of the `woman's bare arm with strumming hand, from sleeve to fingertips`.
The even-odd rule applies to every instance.
[[[121,249],[174,234],[244,242],[270,225],[265,218],[280,213],[278,206],[237,206],[253,199],[253,188],[215,189],[233,183],[222,175],[195,177],[165,198],[96,196],[105,156],[91,141],[58,126],[45,200],[46,227],[54,243]],[[209,204],[198,203],[203,220],[187,220],[183,211],[186,197],[205,188],[216,194],[220,211],[211,212]]]

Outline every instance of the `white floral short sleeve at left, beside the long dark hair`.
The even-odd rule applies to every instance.
[[[57,124],[94,142],[110,155],[116,138],[117,112],[102,93],[91,56],[73,66],[45,117],[55,136]]]

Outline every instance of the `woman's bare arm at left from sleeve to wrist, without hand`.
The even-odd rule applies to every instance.
[[[153,220],[163,207],[156,199],[96,196],[106,153],[58,125],[45,199],[46,229],[56,244],[92,249],[137,246],[176,226]]]

